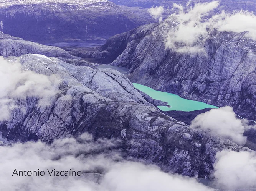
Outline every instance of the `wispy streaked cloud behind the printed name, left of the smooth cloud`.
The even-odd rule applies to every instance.
[[[82,134],[77,139],[60,139],[51,145],[43,142],[26,142],[0,146],[1,190],[96,191],[97,185],[84,182],[79,176],[49,176],[47,169],[104,172],[116,164],[115,160],[121,159],[118,152],[109,151],[117,145],[118,141],[115,140],[99,139],[94,142],[92,136]],[[105,151],[109,153],[104,154]],[[17,172],[39,169],[45,172],[45,176],[12,176],[15,169]]]

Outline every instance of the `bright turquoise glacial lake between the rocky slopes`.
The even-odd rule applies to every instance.
[[[205,108],[218,108],[214,105],[209,105],[204,102],[197,102],[193,100],[184,99],[176,94],[157,91],[150,87],[143,86],[141,84],[133,83],[133,85],[135,88],[149,95],[153,99],[161,100],[162,102],[167,102],[170,107],[158,106],[160,110],[165,112],[167,111],[191,112],[191,111],[201,110]]]

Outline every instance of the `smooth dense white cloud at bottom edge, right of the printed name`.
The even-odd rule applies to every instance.
[[[116,165],[102,182],[108,191],[213,191],[194,178],[161,172],[139,163]]]

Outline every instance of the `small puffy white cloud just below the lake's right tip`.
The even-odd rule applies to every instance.
[[[247,140],[243,136],[245,127],[242,120],[236,118],[233,108],[229,106],[201,113],[191,122],[190,127],[213,131],[238,145],[244,145]]]

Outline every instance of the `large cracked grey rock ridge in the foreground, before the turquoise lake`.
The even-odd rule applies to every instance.
[[[74,66],[39,55],[8,57],[24,70],[59,80],[59,92],[47,106],[37,97],[15,99],[9,120],[2,121],[2,140],[27,141],[92,133],[123,140],[124,155],[159,165],[168,172],[208,177],[222,149],[248,150],[214,133],[193,130],[149,104],[121,73]]]

